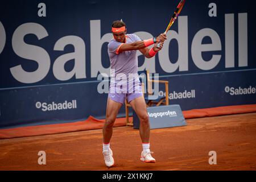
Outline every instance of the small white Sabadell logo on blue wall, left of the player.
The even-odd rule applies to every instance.
[[[65,110],[65,109],[76,109],[76,100],[71,102],[64,101],[63,103],[52,102],[48,104],[47,102],[36,102],[36,108],[42,109],[42,111],[53,111],[53,110]]]

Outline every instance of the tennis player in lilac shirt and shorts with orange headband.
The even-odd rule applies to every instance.
[[[103,127],[103,156],[108,167],[114,166],[113,152],[110,149],[110,139],[112,138],[113,125],[121,106],[127,101],[133,107],[140,119],[139,134],[142,140],[143,151],[141,161],[155,163],[150,151],[150,123],[146,110],[141,83],[138,77],[138,57],[139,50],[145,57],[150,58],[156,55],[163,47],[166,34],[160,34],[148,40],[141,40],[135,34],[126,34],[126,24],[122,20],[116,20],[112,24],[113,39],[108,44],[108,54],[110,59],[110,91],[106,106],[106,121]],[[147,48],[154,44],[151,49]],[[157,45],[159,45],[157,47]],[[137,75],[132,80],[129,75]],[[118,75],[126,76],[126,81],[120,85],[121,78]],[[123,78],[122,78],[123,80]],[[125,85],[125,86],[124,86]],[[132,85],[132,86],[131,86]]]

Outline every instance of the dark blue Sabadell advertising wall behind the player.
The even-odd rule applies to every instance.
[[[164,32],[178,3],[1,1],[0,128],[105,118],[98,76],[110,75],[112,22],[148,39]],[[186,1],[163,49],[151,59],[138,51],[138,70],[168,80],[170,104],[182,110],[256,104],[252,3]]]

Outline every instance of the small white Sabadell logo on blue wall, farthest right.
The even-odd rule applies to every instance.
[[[247,95],[247,94],[255,94],[256,93],[256,86],[249,86],[248,88],[234,88],[234,87],[225,87],[225,92],[229,93],[230,96],[239,96],[239,95]]]

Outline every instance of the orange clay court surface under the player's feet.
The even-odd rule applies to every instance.
[[[255,170],[256,113],[186,119],[187,126],[151,130],[155,164],[142,163],[139,131],[114,127],[115,163],[105,167],[102,130],[0,140],[0,170]],[[46,165],[38,152],[46,152]],[[209,151],[217,152],[210,165]]]

